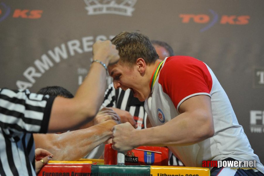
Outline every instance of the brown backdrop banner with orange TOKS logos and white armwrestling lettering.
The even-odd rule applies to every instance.
[[[0,0],[0,87],[37,92],[57,85],[74,94],[89,71],[96,40],[138,31],[167,42],[175,55],[209,65],[264,163],[263,5],[262,0]]]

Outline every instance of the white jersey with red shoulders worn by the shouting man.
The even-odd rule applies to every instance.
[[[196,95],[211,97],[215,134],[194,145],[171,146],[169,149],[186,166],[202,167],[203,160],[231,157],[241,161],[257,160],[257,169],[264,172],[224,89],[212,70],[193,57],[173,56],[164,60],[152,92],[145,101],[152,126],[177,118],[181,103]]]

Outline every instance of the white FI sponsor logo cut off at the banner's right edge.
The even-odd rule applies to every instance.
[[[264,111],[250,111],[250,131],[251,133],[264,133]]]

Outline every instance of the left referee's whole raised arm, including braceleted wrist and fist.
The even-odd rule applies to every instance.
[[[111,41],[97,41],[93,45],[93,60],[100,60],[107,66],[118,59],[118,51]],[[74,98],[55,98],[48,132],[65,131],[92,120],[104,98],[105,78],[105,68],[100,63],[93,62]]]

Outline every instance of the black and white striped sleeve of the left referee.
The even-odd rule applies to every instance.
[[[0,125],[13,133],[47,133],[54,97],[30,93],[29,90],[0,90]]]

